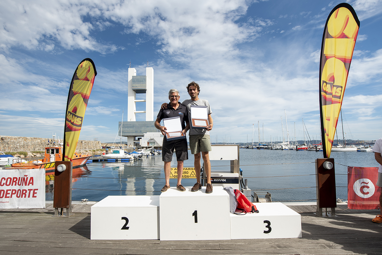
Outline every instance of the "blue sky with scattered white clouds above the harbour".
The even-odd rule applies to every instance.
[[[382,136],[382,1],[350,0],[361,21],[343,100],[345,137]],[[214,118],[212,142],[319,139],[318,75],[327,16],[341,1],[0,2],[0,135],[61,137],[71,77],[97,68],[80,139],[113,141],[127,110],[127,70],[154,68],[154,115],[168,90],[196,81]],[[137,110],[144,110],[137,103]],[[144,120],[137,114],[137,120]],[[338,128],[338,132],[342,132]],[[262,136],[262,135],[261,135]],[[340,136],[340,134],[339,134]],[[341,135],[342,136],[342,135]],[[286,130],[285,130],[286,137]],[[262,138],[261,138],[262,139]],[[119,140],[119,136],[117,137]],[[280,140],[278,138],[277,140]]]

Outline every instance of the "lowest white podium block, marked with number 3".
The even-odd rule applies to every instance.
[[[231,239],[301,237],[301,215],[279,202],[254,205],[259,213],[230,214]]]

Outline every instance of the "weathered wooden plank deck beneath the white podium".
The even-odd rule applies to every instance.
[[[290,207],[299,211],[311,210],[311,207]],[[52,212],[1,211],[0,254],[342,255],[380,254],[382,251],[382,224],[371,222],[378,210],[345,208],[338,210],[339,217],[333,218],[321,218],[312,212],[300,214],[302,238],[160,241],[90,240],[91,216],[88,213],[56,218],[52,217]]]

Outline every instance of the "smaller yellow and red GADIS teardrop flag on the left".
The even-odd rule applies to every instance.
[[[79,132],[85,115],[87,101],[97,75],[93,60],[85,58],[77,66],[70,83],[66,105],[64,133],[64,161],[71,161],[77,147]]]

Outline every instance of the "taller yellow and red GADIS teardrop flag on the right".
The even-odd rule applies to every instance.
[[[319,77],[324,158],[329,158],[332,151],[358,29],[358,17],[348,3],[340,3],[335,6],[325,24]]]

